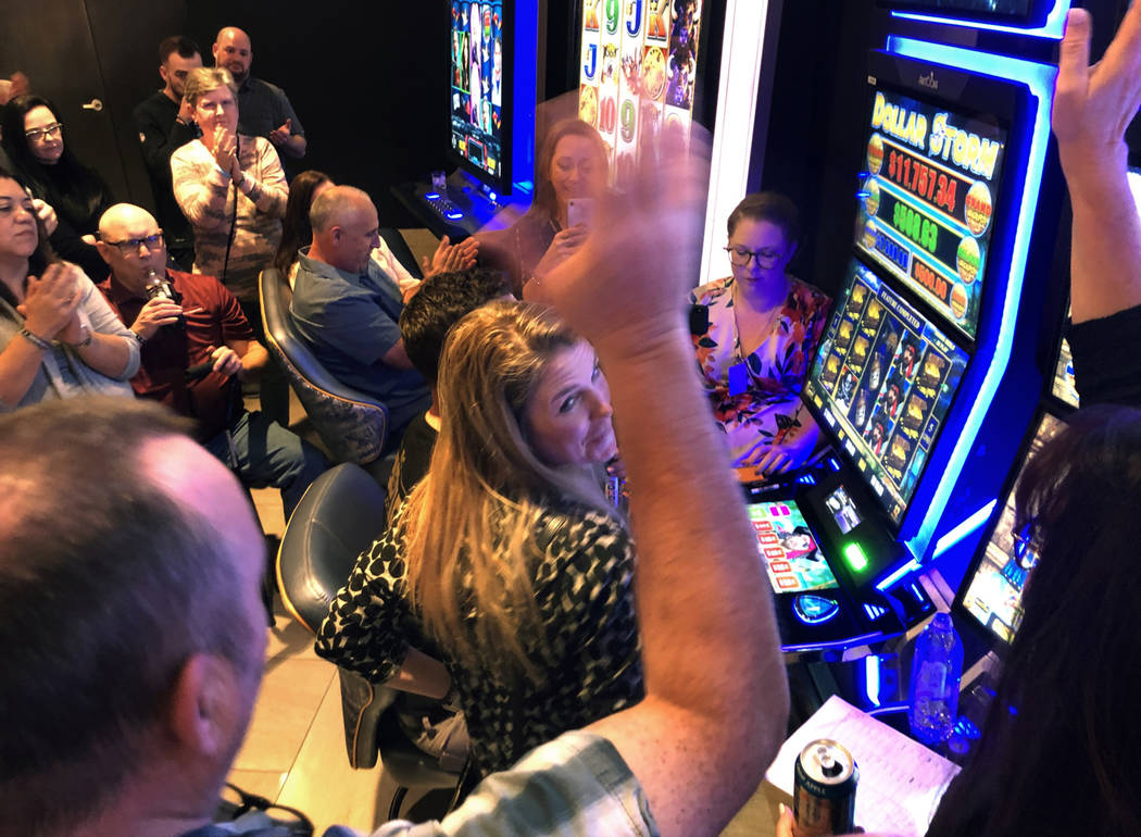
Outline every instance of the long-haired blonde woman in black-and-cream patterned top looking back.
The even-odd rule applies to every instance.
[[[487,773],[641,699],[633,554],[599,488],[616,452],[606,378],[552,312],[495,301],[461,320],[439,408],[428,476],[317,652],[373,682],[442,660]]]

